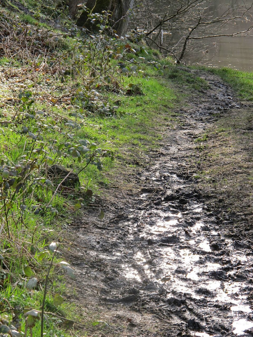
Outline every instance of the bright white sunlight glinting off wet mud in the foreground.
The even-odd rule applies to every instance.
[[[176,175],[175,177],[170,175],[170,177],[174,186],[177,188],[182,186],[181,180]],[[141,198],[148,198],[149,195],[149,193],[143,193]],[[166,206],[165,202],[165,209]],[[208,230],[202,215],[203,205],[193,203],[190,212],[196,220],[189,226],[185,226],[186,215],[189,214],[189,208],[186,207],[170,212],[154,210],[154,212],[148,213],[148,216],[145,212],[141,212],[143,220],[140,219],[140,223],[143,228],[142,237],[138,240],[148,240],[152,235],[154,242],[156,238],[162,238],[164,246],[158,245],[150,248],[155,249],[159,256],[156,261],[150,261],[148,251],[140,249],[134,252],[133,265],[122,265],[124,276],[138,282],[142,282],[144,277],[150,279],[154,284],[163,284],[168,288],[169,301],[171,295],[188,294],[195,300],[212,299],[214,303],[222,303],[235,315],[234,334],[242,335],[245,329],[253,327],[253,322],[240,317],[240,313],[249,314],[251,312],[250,306],[246,302],[246,296],[238,295],[245,284],[240,281],[223,279],[223,266],[219,263],[219,255],[215,257],[215,250],[211,245],[212,239],[210,239],[216,238],[218,232]],[[145,225],[147,218],[149,221]],[[206,228],[207,232],[205,232]],[[180,238],[179,245],[178,237]],[[233,248],[231,240],[224,239],[224,242],[229,249]],[[219,251],[219,248],[214,249]],[[150,255],[152,254],[150,253]],[[247,261],[247,257],[245,255],[231,256],[231,261],[244,263]],[[156,264],[156,268],[153,267],[153,263]],[[159,272],[157,268],[159,268]],[[218,280],[214,279],[212,275],[217,275]],[[212,337],[214,335],[195,332],[193,336]]]

